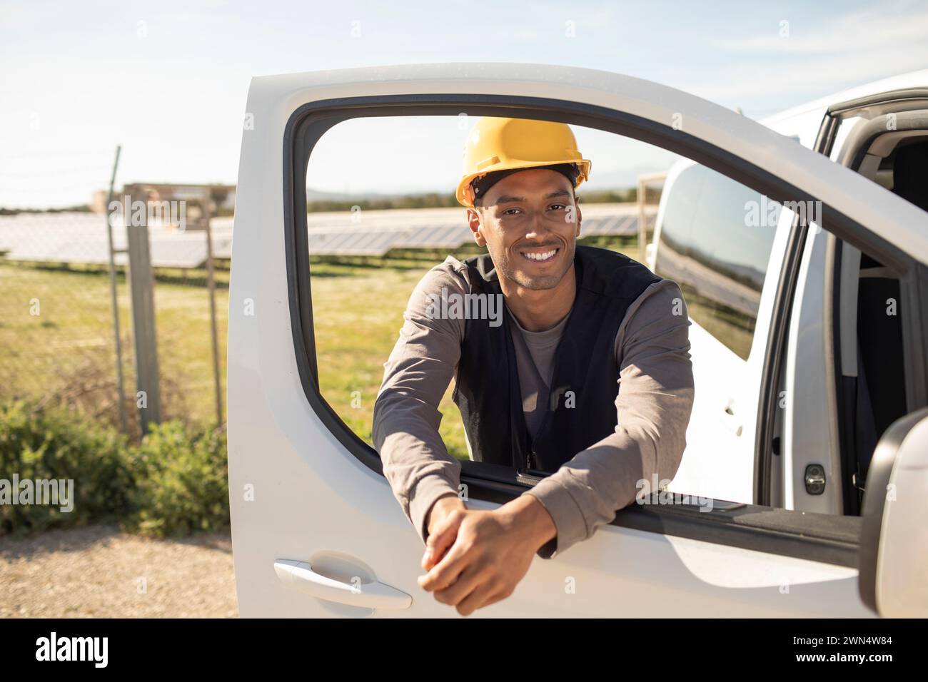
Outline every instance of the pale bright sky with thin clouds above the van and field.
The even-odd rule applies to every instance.
[[[568,21],[574,37],[565,32]],[[928,67],[926,36],[928,3],[911,0],[0,0],[0,207],[87,203],[108,185],[117,144],[117,187],[234,184],[256,75],[459,61],[561,64],[671,85],[762,119]],[[419,174],[393,173],[389,183],[379,172],[356,173],[359,160],[370,159],[387,137],[380,122],[341,137],[332,131],[326,172],[314,174],[322,157],[311,159],[310,186],[450,191],[446,178],[459,170],[466,131],[432,124],[447,133],[432,147],[447,152],[435,154],[441,161],[434,173],[418,164]],[[398,122],[393,147],[409,149],[422,135],[411,122]],[[646,149],[612,153],[612,143],[595,135],[579,131],[578,141],[582,147],[585,139],[599,140],[594,174],[609,172],[600,177],[665,161],[663,152]]]

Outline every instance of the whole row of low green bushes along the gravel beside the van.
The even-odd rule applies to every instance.
[[[139,445],[61,407],[0,405],[0,479],[73,480],[73,509],[0,504],[0,535],[119,521],[148,535],[228,527],[226,435],[174,420]],[[10,483],[7,483],[9,485]]]

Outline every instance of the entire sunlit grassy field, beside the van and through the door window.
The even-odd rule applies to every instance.
[[[633,245],[621,246],[634,255]],[[371,419],[383,363],[403,325],[406,302],[419,278],[444,260],[444,254],[438,253],[402,255],[403,259],[392,258],[377,265],[312,265],[322,393],[367,443],[371,442]],[[227,277],[227,272],[217,274],[220,284],[216,289],[224,397]],[[163,418],[179,417],[201,424],[215,421],[210,309],[204,282],[201,272],[161,271],[156,277]],[[118,290],[125,388],[131,399],[135,392],[132,322],[122,278]],[[114,420],[118,411],[107,274],[0,262],[0,291],[0,401],[65,396],[92,414]],[[31,315],[35,299],[39,314]],[[451,388],[440,405],[441,434],[449,452],[466,458],[463,425],[451,401]],[[134,416],[131,409],[129,414]]]

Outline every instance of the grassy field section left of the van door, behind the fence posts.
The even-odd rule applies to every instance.
[[[128,290],[118,283],[125,390],[135,393]],[[0,400],[64,396],[92,414],[113,418],[116,355],[110,281],[101,272],[72,272],[0,263]],[[225,371],[228,292],[216,290],[220,355]],[[156,282],[156,329],[164,418],[215,421],[207,290]]]

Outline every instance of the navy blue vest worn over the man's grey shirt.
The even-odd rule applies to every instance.
[[[465,264],[471,293],[502,293],[488,253]],[[534,439],[522,412],[509,313],[497,327],[489,319],[466,321],[453,397],[475,461],[553,472],[615,430],[615,335],[628,306],[660,277],[621,253],[585,246],[576,247],[574,273],[576,299]]]

